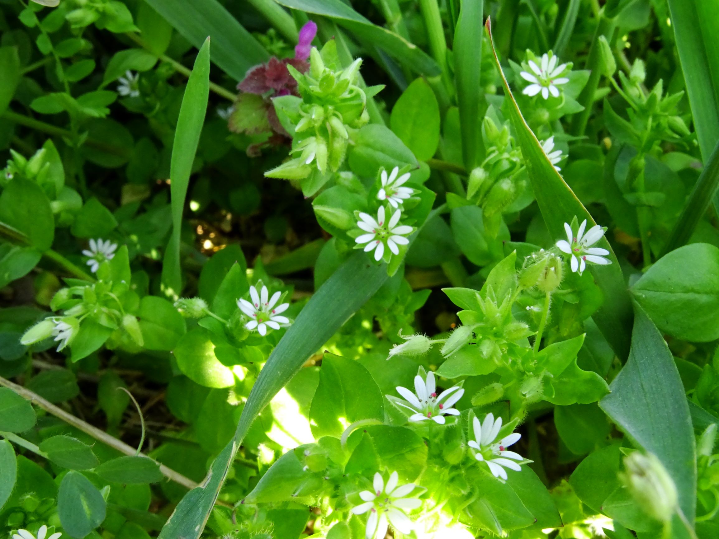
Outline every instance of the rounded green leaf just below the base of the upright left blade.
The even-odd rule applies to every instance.
[[[172,350],[186,332],[185,319],[168,300],[147,295],[137,315],[147,350]]]

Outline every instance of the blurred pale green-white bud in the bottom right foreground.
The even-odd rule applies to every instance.
[[[677,487],[652,453],[634,451],[624,458],[620,479],[647,515],[668,522],[677,510]]]

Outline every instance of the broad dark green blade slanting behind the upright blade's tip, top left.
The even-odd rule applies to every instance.
[[[270,59],[255,37],[217,0],[145,1],[198,49],[211,37],[212,62],[234,80],[244,79],[249,68]]]

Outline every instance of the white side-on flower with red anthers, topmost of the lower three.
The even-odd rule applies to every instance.
[[[410,421],[418,423],[432,420],[439,425],[444,425],[444,415],[459,415],[459,410],[452,405],[464,395],[464,390],[459,386],[450,387],[437,395],[434,372],[431,371],[427,373],[426,379],[422,379],[419,374],[414,377],[414,393],[406,387],[398,386],[395,389],[405,400],[397,399],[393,402],[414,412],[409,417]]]

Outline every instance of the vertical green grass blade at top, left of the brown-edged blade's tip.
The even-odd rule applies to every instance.
[[[463,0],[454,30],[454,80],[457,83],[459,127],[462,129],[462,157],[464,167],[472,170],[477,165],[482,136],[480,103],[485,98],[480,86],[482,57],[482,11],[484,0]]]

